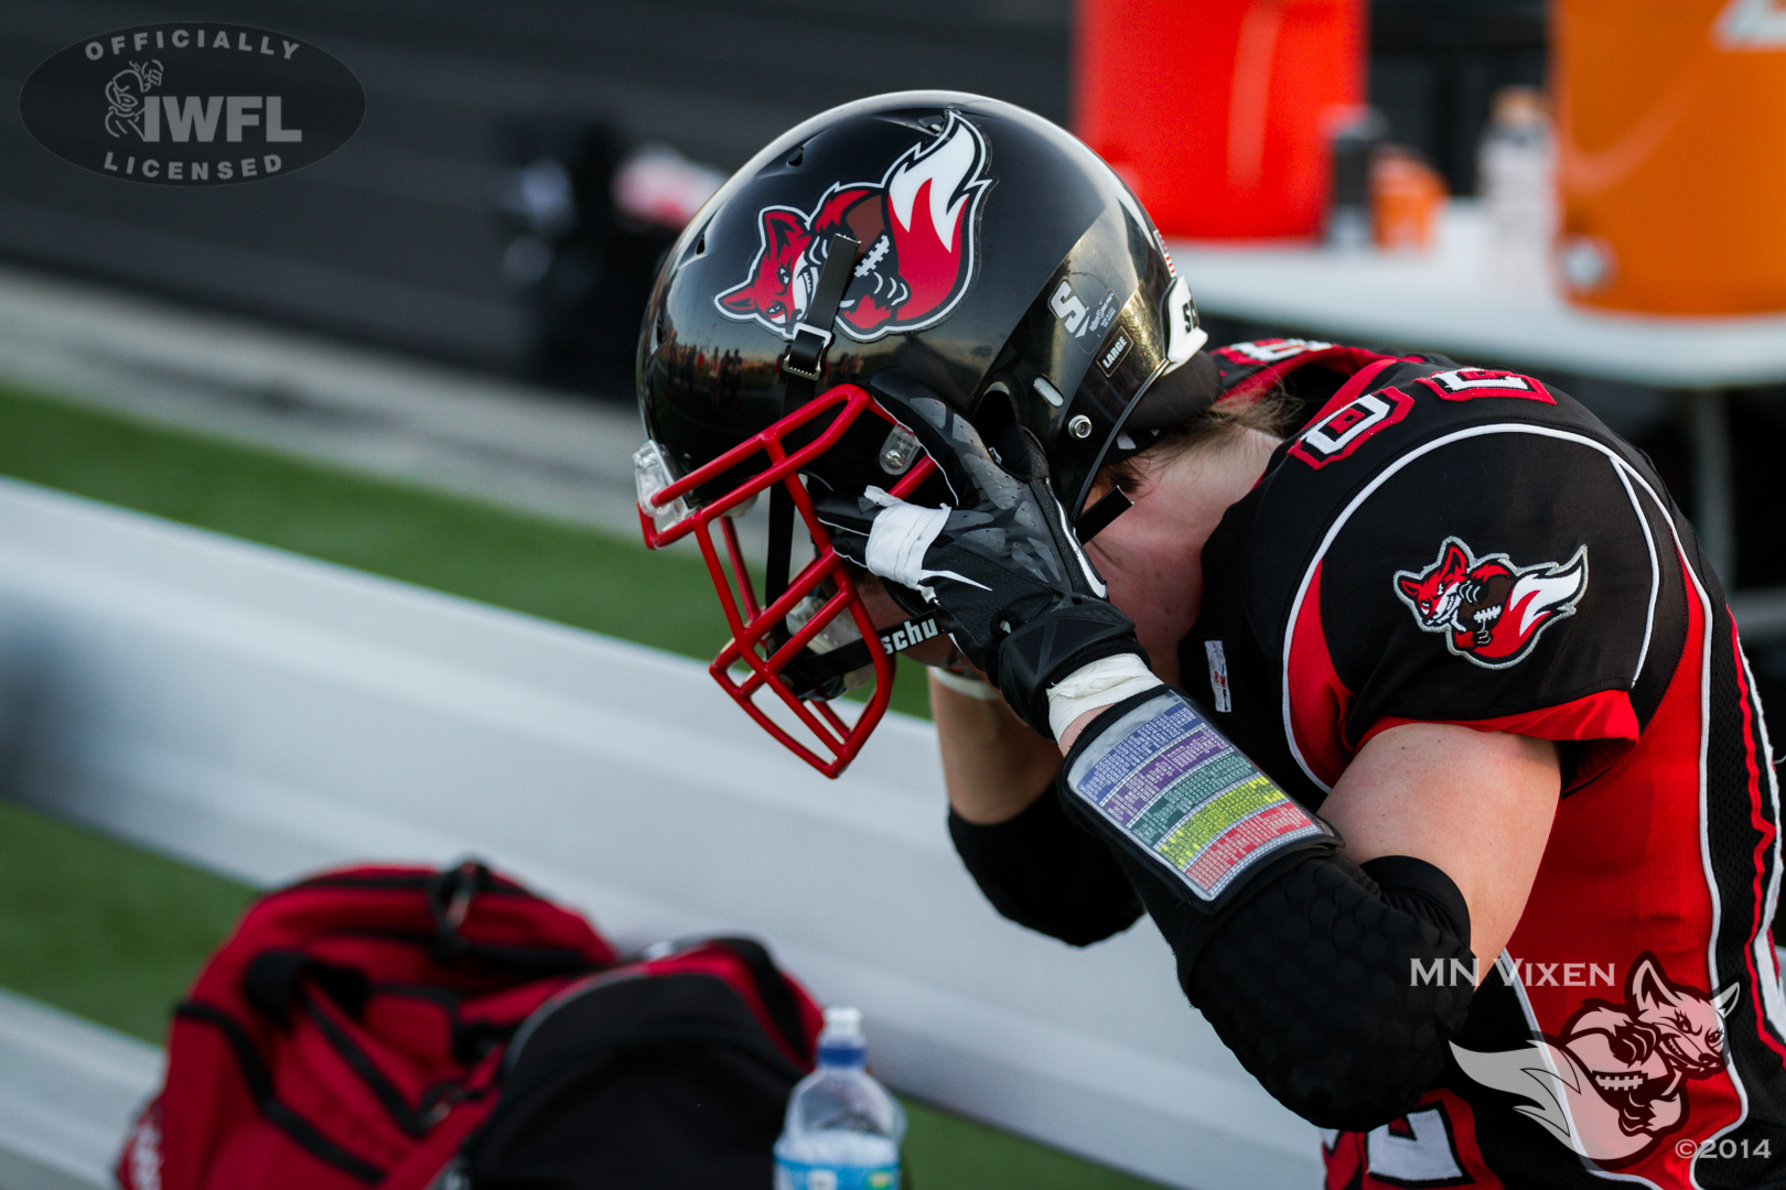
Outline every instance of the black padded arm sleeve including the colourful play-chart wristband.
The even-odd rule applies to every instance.
[[[1470,910],[1409,856],[1372,865],[1166,687],[1100,714],[1061,765],[1172,944],[1179,983],[1259,1083],[1323,1128],[1372,1129],[1438,1079],[1473,992]]]

